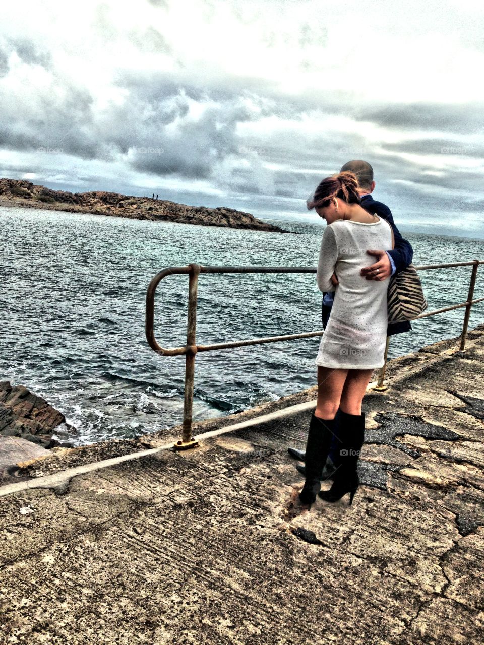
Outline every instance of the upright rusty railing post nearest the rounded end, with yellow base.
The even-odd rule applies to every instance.
[[[187,450],[197,445],[192,437],[193,390],[195,375],[195,356],[197,353],[197,288],[199,264],[190,264],[188,283],[188,321],[187,321],[187,352],[185,355],[185,399],[183,402],[183,436],[174,445],[176,450]]]

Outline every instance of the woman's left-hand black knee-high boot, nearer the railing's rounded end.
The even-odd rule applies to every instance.
[[[306,444],[306,481],[299,493],[302,504],[312,504],[321,488],[319,476],[328,457],[335,424],[335,419],[319,419],[314,413],[311,415]]]

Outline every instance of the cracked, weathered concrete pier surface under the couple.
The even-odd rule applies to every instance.
[[[458,343],[368,390],[351,507],[297,501],[314,388],[196,424],[188,452],[172,430],[10,468],[0,642],[481,642],[484,326]]]

